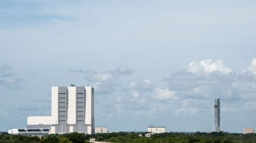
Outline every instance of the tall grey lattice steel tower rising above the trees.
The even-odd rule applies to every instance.
[[[220,99],[216,99],[214,103],[214,118],[215,118],[214,132],[220,132],[221,131]]]

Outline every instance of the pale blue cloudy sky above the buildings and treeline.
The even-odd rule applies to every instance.
[[[95,87],[111,131],[256,128],[255,1],[0,1],[0,130]]]

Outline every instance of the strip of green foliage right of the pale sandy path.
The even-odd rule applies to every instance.
[[[139,136],[142,134],[142,137]],[[151,137],[145,137],[146,133],[102,133],[86,135],[86,138],[96,138],[98,141],[108,142],[180,142],[180,143],[237,143],[237,142],[256,142],[256,134],[230,134],[230,133],[162,133]]]

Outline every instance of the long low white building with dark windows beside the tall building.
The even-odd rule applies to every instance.
[[[49,129],[11,129],[8,130],[9,134],[18,134],[26,136],[45,136],[50,134]]]

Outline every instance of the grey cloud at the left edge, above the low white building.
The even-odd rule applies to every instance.
[[[12,67],[10,65],[0,66],[0,85],[7,88],[19,88],[20,83],[25,80],[22,78],[16,78],[15,74],[11,73]]]

